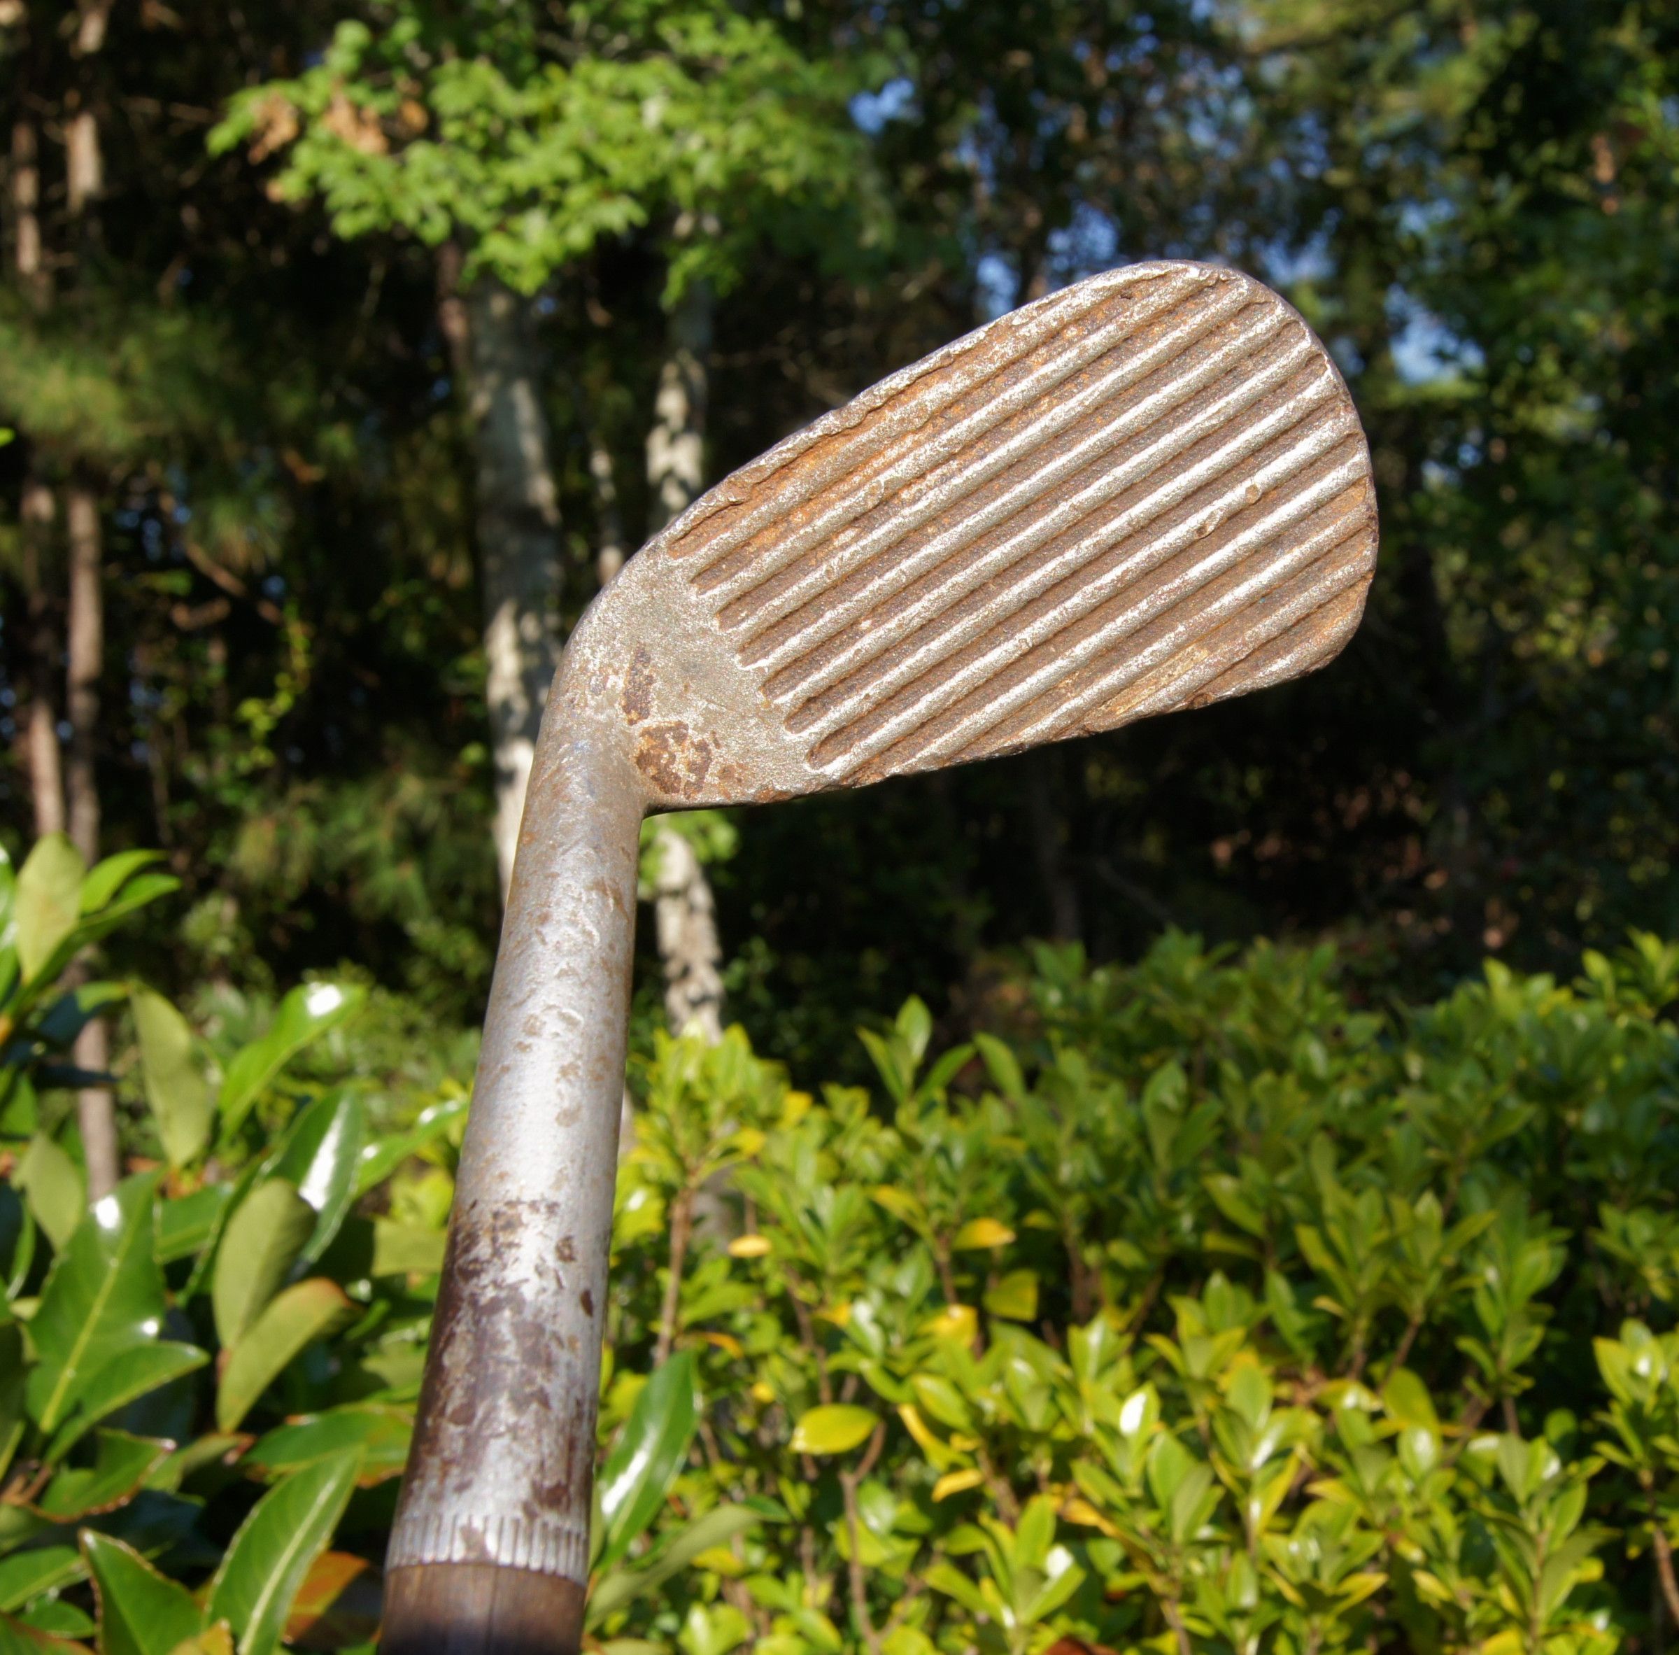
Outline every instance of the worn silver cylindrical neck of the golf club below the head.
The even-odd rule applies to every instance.
[[[581,1631],[646,798],[581,677],[568,655],[526,796],[384,1648],[573,1650]]]

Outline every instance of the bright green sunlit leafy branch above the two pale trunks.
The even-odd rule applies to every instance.
[[[766,208],[833,207],[866,168],[845,114],[861,81],[732,5],[573,5],[557,42],[495,5],[403,0],[378,20],[339,24],[316,67],[235,97],[212,146],[282,151],[277,192],[319,197],[341,235],[462,239],[468,277],[536,292],[660,220],[709,225],[673,237],[672,294],[729,286]]]

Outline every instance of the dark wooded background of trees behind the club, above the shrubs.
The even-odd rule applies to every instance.
[[[163,986],[351,961],[398,1022],[470,1028],[522,716],[497,491],[547,548],[507,588],[539,680],[667,514],[677,346],[698,486],[1157,255],[1276,282],[1345,368],[1383,514],[1363,632],[1192,719],[702,822],[730,1015],[856,1074],[860,1008],[959,1025],[1028,936],[1335,934],[1425,993],[1679,929],[1672,7],[7,0],[0,52],[0,825],[39,823],[44,706],[104,849],[185,885],[121,944]],[[541,477],[495,469],[504,391]]]

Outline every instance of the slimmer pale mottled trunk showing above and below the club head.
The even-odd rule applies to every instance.
[[[688,287],[670,318],[670,346],[658,376],[653,427],[646,437],[646,481],[656,533],[700,492],[705,465],[707,363],[712,348],[712,291]],[[693,845],[668,817],[655,818],[653,917],[665,973],[665,1018],[672,1033],[693,1030],[722,1040],[724,980],[710,880]]]

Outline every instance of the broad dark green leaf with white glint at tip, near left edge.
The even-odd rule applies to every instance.
[[[163,1272],[153,1257],[158,1173],[126,1178],[94,1203],[52,1264],[30,1322],[39,1363],[29,1410],[55,1430],[107,1361],[158,1337]]]

